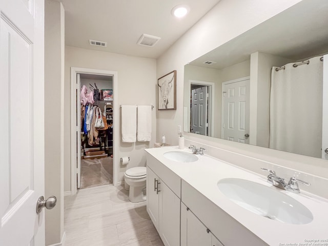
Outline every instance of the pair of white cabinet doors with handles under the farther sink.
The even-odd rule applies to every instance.
[[[166,246],[179,245],[180,198],[147,166],[147,212]]]

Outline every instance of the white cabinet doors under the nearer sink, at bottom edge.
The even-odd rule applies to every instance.
[[[212,232],[181,202],[181,246],[223,246]]]

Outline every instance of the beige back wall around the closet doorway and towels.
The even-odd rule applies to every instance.
[[[100,70],[117,71],[119,105],[156,105],[156,60],[127,56],[109,52],[86,50],[66,46],[65,48],[65,191],[71,191],[70,161],[70,68],[81,67]],[[152,111],[152,140],[150,142],[125,143],[114,142],[118,158],[115,167],[118,182],[124,180],[126,168],[146,166],[145,148],[152,147],[156,135],[156,110]],[[120,115],[120,114],[118,114]],[[120,117],[114,119],[114,127],[118,127],[120,139]],[[119,157],[130,156],[128,166],[119,163]]]

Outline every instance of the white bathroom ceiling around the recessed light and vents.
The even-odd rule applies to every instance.
[[[57,0],[65,9],[65,44],[84,49],[158,58],[220,0]],[[171,14],[176,5],[187,16]],[[142,34],[161,39],[154,47],[137,45]],[[90,46],[89,39],[107,42]]]

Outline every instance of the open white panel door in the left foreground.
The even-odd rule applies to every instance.
[[[44,1],[0,2],[0,245],[45,245]]]

